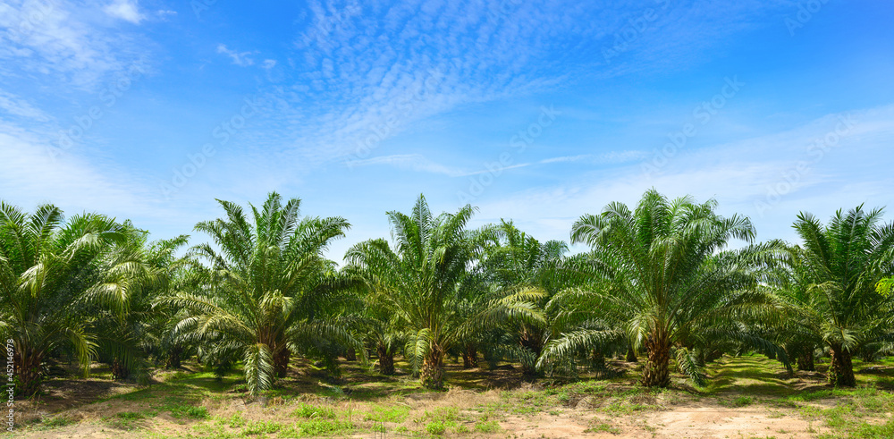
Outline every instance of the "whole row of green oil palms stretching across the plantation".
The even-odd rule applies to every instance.
[[[218,374],[241,367],[257,394],[296,356],[337,378],[340,356],[391,375],[401,353],[433,389],[448,356],[476,367],[480,354],[527,376],[645,355],[642,384],[666,387],[672,366],[704,384],[706,363],[742,350],[789,370],[828,353],[831,384],[853,386],[853,355],[894,350],[894,225],[881,210],[825,225],[802,214],[798,245],[756,243],[750,220],[713,200],[649,190],[633,209],[581,216],[570,241],[590,250],[570,255],[511,222],[470,228],[474,207],[434,215],[420,196],[409,215],[387,213],[391,241],[358,243],[340,267],[325,251],[344,218],[302,217],[276,193],[249,211],[219,203],[223,217],[195,227],[210,241],[185,252],[185,235],[148,242],[104,215],[0,203],[0,336],[15,346],[17,391],[38,392],[64,359],[139,380],[194,357]]]

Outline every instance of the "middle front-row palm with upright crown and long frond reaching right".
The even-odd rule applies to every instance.
[[[415,367],[421,360],[420,381],[431,389],[443,388],[446,352],[474,329],[509,318],[542,320],[523,294],[489,301],[473,315],[464,312],[474,290],[463,283],[482,241],[466,228],[473,212],[467,205],[435,217],[420,195],[411,215],[388,212],[393,249],[385,240],[371,240],[345,256],[367,279],[377,302],[409,332],[405,352]]]

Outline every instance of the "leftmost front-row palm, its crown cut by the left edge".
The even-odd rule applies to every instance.
[[[103,215],[66,222],[52,205],[28,215],[0,202],[0,335],[14,342],[21,393],[38,391],[56,349],[73,350],[87,374],[96,334],[86,311],[122,316],[147,274],[126,246],[132,232]]]

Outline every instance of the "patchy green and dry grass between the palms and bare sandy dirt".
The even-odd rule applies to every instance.
[[[224,376],[222,381],[217,381],[209,372],[175,373],[168,376],[168,381],[100,400],[110,402],[108,405],[114,408],[107,411],[111,415],[101,418],[101,425],[106,427],[106,432],[110,428],[112,432],[132,432],[128,435],[133,439],[161,439],[171,435],[151,431],[157,422],[152,418],[159,414],[170,415],[192,435],[216,439],[336,437],[371,435],[374,431],[413,437],[478,437],[503,433],[511,436],[517,432],[505,432],[499,422],[505,417],[558,416],[567,412],[567,408],[578,408],[611,417],[642,418],[643,413],[671,410],[674,405],[687,401],[703,401],[732,409],[765,409],[772,418],[780,418],[780,422],[792,416],[804,418],[821,432],[829,432],[825,437],[891,438],[894,437],[891,415],[894,413],[894,393],[891,393],[894,358],[873,363],[872,366],[879,367],[859,373],[869,366],[855,367],[858,387],[835,389],[820,381],[811,382],[810,378],[790,379],[779,362],[761,356],[724,357],[706,367],[710,379],[704,388],[694,388],[675,376],[671,389],[645,389],[635,384],[637,371],[634,370],[627,376],[604,380],[541,381],[500,391],[492,399],[478,400],[482,402],[471,409],[453,406],[412,409],[418,404],[426,407],[425,401],[438,400],[443,393],[426,394],[428,391],[419,388],[412,376],[367,377],[361,375],[368,374],[367,369],[348,365],[341,385],[326,384],[316,376],[294,382],[287,380],[282,387],[265,393],[266,407],[261,409],[263,415],[259,417],[241,412],[219,414],[219,409],[231,407],[233,403],[257,403],[246,393],[234,392],[244,385],[244,377],[238,371]],[[477,383],[476,374],[457,373],[460,381],[469,383]],[[453,376],[448,379],[456,385]],[[485,388],[484,384],[475,385]],[[419,396],[411,398],[421,402],[403,402],[413,394]],[[125,407],[128,411],[114,414]],[[72,419],[77,418],[80,417],[60,414],[23,429],[61,429],[75,423]],[[586,427],[589,433],[628,433],[600,420]],[[646,428],[646,431],[653,430]]]

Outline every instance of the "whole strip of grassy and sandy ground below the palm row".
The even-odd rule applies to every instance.
[[[610,379],[527,382],[512,365],[461,370],[450,365],[447,392],[421,389],[411,376],[379,376],[345,362],[338,385],[303,362],[263,397],[238,374],[216,381],[187,365],[156,372],[153,384],[55,377],[31,401],[17,401],[22,438],[279,437],[894,437],[894,359],[855,362],[856,389],[816,373],[789,377],[762,356],[724,357],[709,384],[681,376],[666,390],[638,387],[639,365],[611,361]]]

